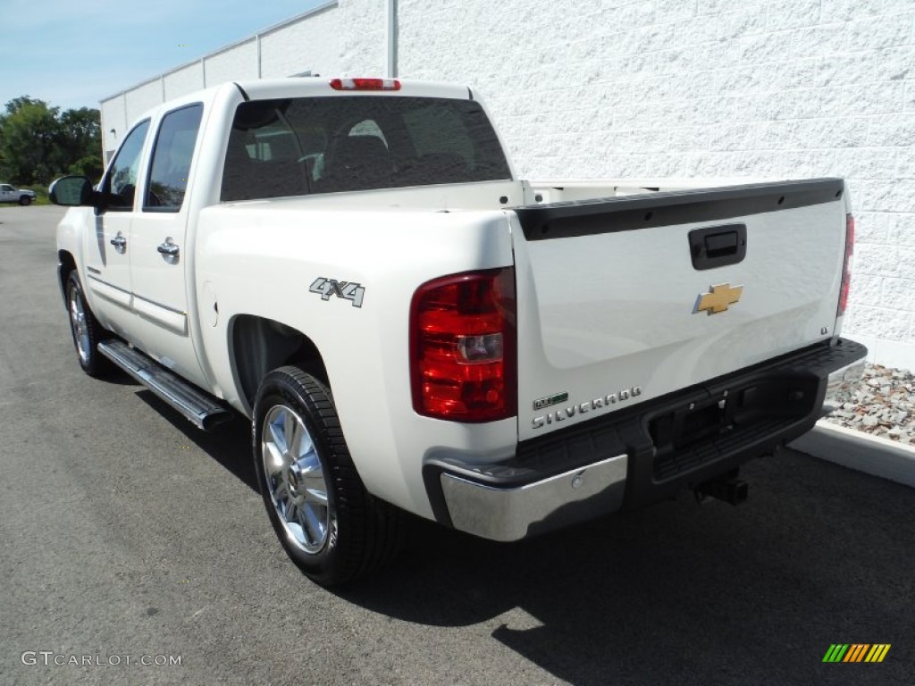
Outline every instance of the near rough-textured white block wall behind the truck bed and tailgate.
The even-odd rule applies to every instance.
[[[348,73],[382,0],[341,0]],[[849,179],[845,334],[915,369],[912,0],[399,0],[404,78],[473,83],[523,177]]]

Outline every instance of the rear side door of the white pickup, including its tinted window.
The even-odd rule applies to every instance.
[[[200,127],[199,102],[158,125],[141,211],[131,227],[135,326],[142,348],[190,381],[206,385],[188,321],[188,177]]]

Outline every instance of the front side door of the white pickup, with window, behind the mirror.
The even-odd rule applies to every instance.
[[[85,233],[85,287],[102,324],[130,338],[131,222],[136,216],[136,184],[149,120],[138,123],[124,138],[102,178],[103,206],[95,215],[95,230]]]

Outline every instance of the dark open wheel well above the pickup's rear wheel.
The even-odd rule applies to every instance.
[[[253,413],[254,398],[264,377],[278,367],[295,364],[330,386],[318,346],[307,335],[264,316],[236,315],[229,324],[229,358],[239,399]]]

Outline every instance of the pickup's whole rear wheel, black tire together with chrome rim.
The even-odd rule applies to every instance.
[[[355,581],[400,550],[404,513],[362,485],[324,383],[298,367],[270,372],[257,391],[252,428],[267,515],[286,554],[310,579],[324,586]]]

